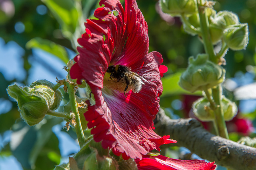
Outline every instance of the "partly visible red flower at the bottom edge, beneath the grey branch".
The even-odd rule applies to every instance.
[[[142,160],[136,159],[138,170],[214,170],[214,162],[204,160],[178,160],[166,156],[143,156]]]

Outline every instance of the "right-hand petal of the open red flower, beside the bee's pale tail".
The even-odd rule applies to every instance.
[[[158,52],[151,52],[145,57],[130,64],[132,71],[142,76],[146,81],[139,93],[133,93],[130,96],[130,104],[137,105],[145,114],[155,119],[156,113],[159,110],[159,96],[162,94],[163,87],[158,67],[162,60],[162,55]],[[147,106],[147,107],[144,107]]]

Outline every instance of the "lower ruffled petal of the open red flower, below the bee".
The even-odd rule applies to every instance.
[[[92,92],[94,94],[99,92],[96,96],[100,96],[101,93],[100,90],[94,92],[93,88]],[[102,140],[102,143],[114,148],[116,153],[125,152],[131,158],[142,158],[141,154],[147,154],[152,149],[160,150],[160,145],[176,142],[167,139],[169,136],[167,138],[158,136],[151,127],[152,117],[143,113],[137,105],[127,104],[123,94],[115,93],[115,95],[102,93],[104,96],[102,106],[100,108],[96,105],[89,106],[84,114],[89,121],[88,127],[93,127],[91,133],[94,134],[95,141]],[[102,117],[108,123],[101,121]],[[116,141],[110,140],[110,135]]]

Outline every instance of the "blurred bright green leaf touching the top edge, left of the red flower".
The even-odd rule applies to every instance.
[[[42,0],[52,12],[62,28],[64,36],[72,38],[78,25],[80,12],[75,7],[73,0]]]

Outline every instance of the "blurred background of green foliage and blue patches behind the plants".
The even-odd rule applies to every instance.
[[[75,132],[63,129],[62,119],[49,116],[39,125],[26,125],[6,87],[14,82],[26,86],[40,79],[55,83],[56,77],[65,78],[66,71],[62,68],[76,56],[76,39],[85,29],[82,22],[94,13],[98,2],[0,0],[0,170],[54,169],[79,150]],[[150,51],[160,52],[163,64],[168,66],[162,78],[164,92],[160,106],[172,119],[193,117],[191,105],[201,94],[182,90],[178,80],[188,65],[188,57],[203,53],[203,45],[198,37],[184,32],[179,18],[163,14],[158,0],[137,0],[137,3],[148,23]],[[238,14],[241,23],[249,26],[246,50],[230,50],[225,57],[223,88],[225,96],[238,105],[237,116],[227,122],[230,139],[253,138],[256,137],[256,0],[218,0],[214,9],[232,11]],[[67,100],[68,96],[64,96],[63,104]],[[214,133],[211,123],[203,125]],[[165,154],[179,158],[188,152],[172,147]]]

